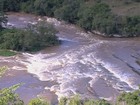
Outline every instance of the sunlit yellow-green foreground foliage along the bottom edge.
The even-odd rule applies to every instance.
[[[25,105],[24,101],[20,99],[15,90],[21,84],[4,88],[0,90],[0,105]],[[123,93],[119,96],[115,104],[110,104],[105,100],[81,100],[78,96],[73,98],[61,98],[58,105],[139,105],[140,103],[140,90],[133,93]],[[28,105],[51,105],[49,102],[36,98],[32,99]]]

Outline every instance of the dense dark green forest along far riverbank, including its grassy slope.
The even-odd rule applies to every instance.
[[[55,17],[105,36],[140,36],[140,0],[1,0],[4,11]]]

